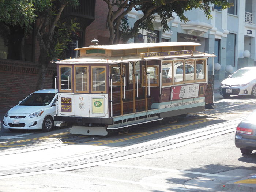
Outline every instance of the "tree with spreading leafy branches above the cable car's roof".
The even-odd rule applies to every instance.
[[[199,8],[204,10],[208,19],[211,18],[210,4],[222,6],[223,9],[230,7],[227,0],[103,0],[108,5],[107,22],[109,26],[109,44],[118,44],[120,38],[126,43],[130,38],[136,37],[139,29],[153,30],[154,14],[161,18],[163,32],[170,30],[167,19],[173,17],[173,13],[181,21],[188,22],[184,12]],[[144,16],[134,23],[134,27],[128,31],[120,31],[121,19],[135,8],[136,11],[142,11]],[[122,10],[124,10],[122,12]]]

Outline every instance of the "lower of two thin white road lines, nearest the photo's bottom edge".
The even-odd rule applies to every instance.
[[[125,183],[130,183],[130,184],[135,184],[135,185],[155,187],[157,189],[164,188],[164,189],[179,189],[179,190],[183,190],[183,191],[189,190],[187,188],[182,188],[182,187],[171,187],[171,186],[168,186],[168,185],[158,185],[158,184],[153,184],[153,183],[136,182],[136,181],[129,181],[129,180],[124,180],[124,179],[115,179],[115,178],[108,178],[108,177],[81,175],[81,174],[67,173],[67,172],[55,172],[53,174],[66,175],[66,176],[75,176],[75,177],[79,177],[79,178],[85,177],[85,178],[94,178],[94,179],[107,180],[107,181],[116,181],[118,183],[125,182]]]

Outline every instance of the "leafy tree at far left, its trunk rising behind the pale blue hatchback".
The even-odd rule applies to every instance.
[[[60,23],[60,15],[67,5],[76,7],[79,3],[78,0],[0,0],[0,22],[5,25],[0,27],[2,37],[9,35],[10,39],[10,32],[17,28],[15,31],[19,30],[23,38],[24,33],[31,31],[32,24],[39,19],[39,25],[35,29],[40,46],[39,77],[36,90],[43,89],[50,61],[63,53],[70,41],[72,31],[78,28],[76,26],[78,23],[75,21],[71,26]],[[6,34],[8,30],[9,34]]]

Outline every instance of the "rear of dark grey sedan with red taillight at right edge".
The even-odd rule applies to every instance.
[[[251,154],[256,150],[256,110],[237,125],[235,145],[242,154]]]

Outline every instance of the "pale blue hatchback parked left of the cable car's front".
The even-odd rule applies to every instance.
[[[35,91],[5,113],[3,127],[15,129],[42,129],[49,132],[60,123],[54,121],[56,114],[55,89]]]

